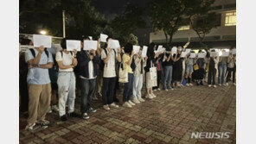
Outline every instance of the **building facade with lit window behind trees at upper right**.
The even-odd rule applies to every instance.
[[[204,43],[208,47],[235,47],[236,43],[236,1],[216,0],[212,5],[212,11],[216,12],[220,21],[217,28],[213,28],[205,36]],[[173,35],[173,46],[185,44],[190,40],[189,47],[200,48],[199,39],[195,31],[189,26],[182,26]],[[150,42],[164,44],[166,41],[163,31],[151,32]]]

